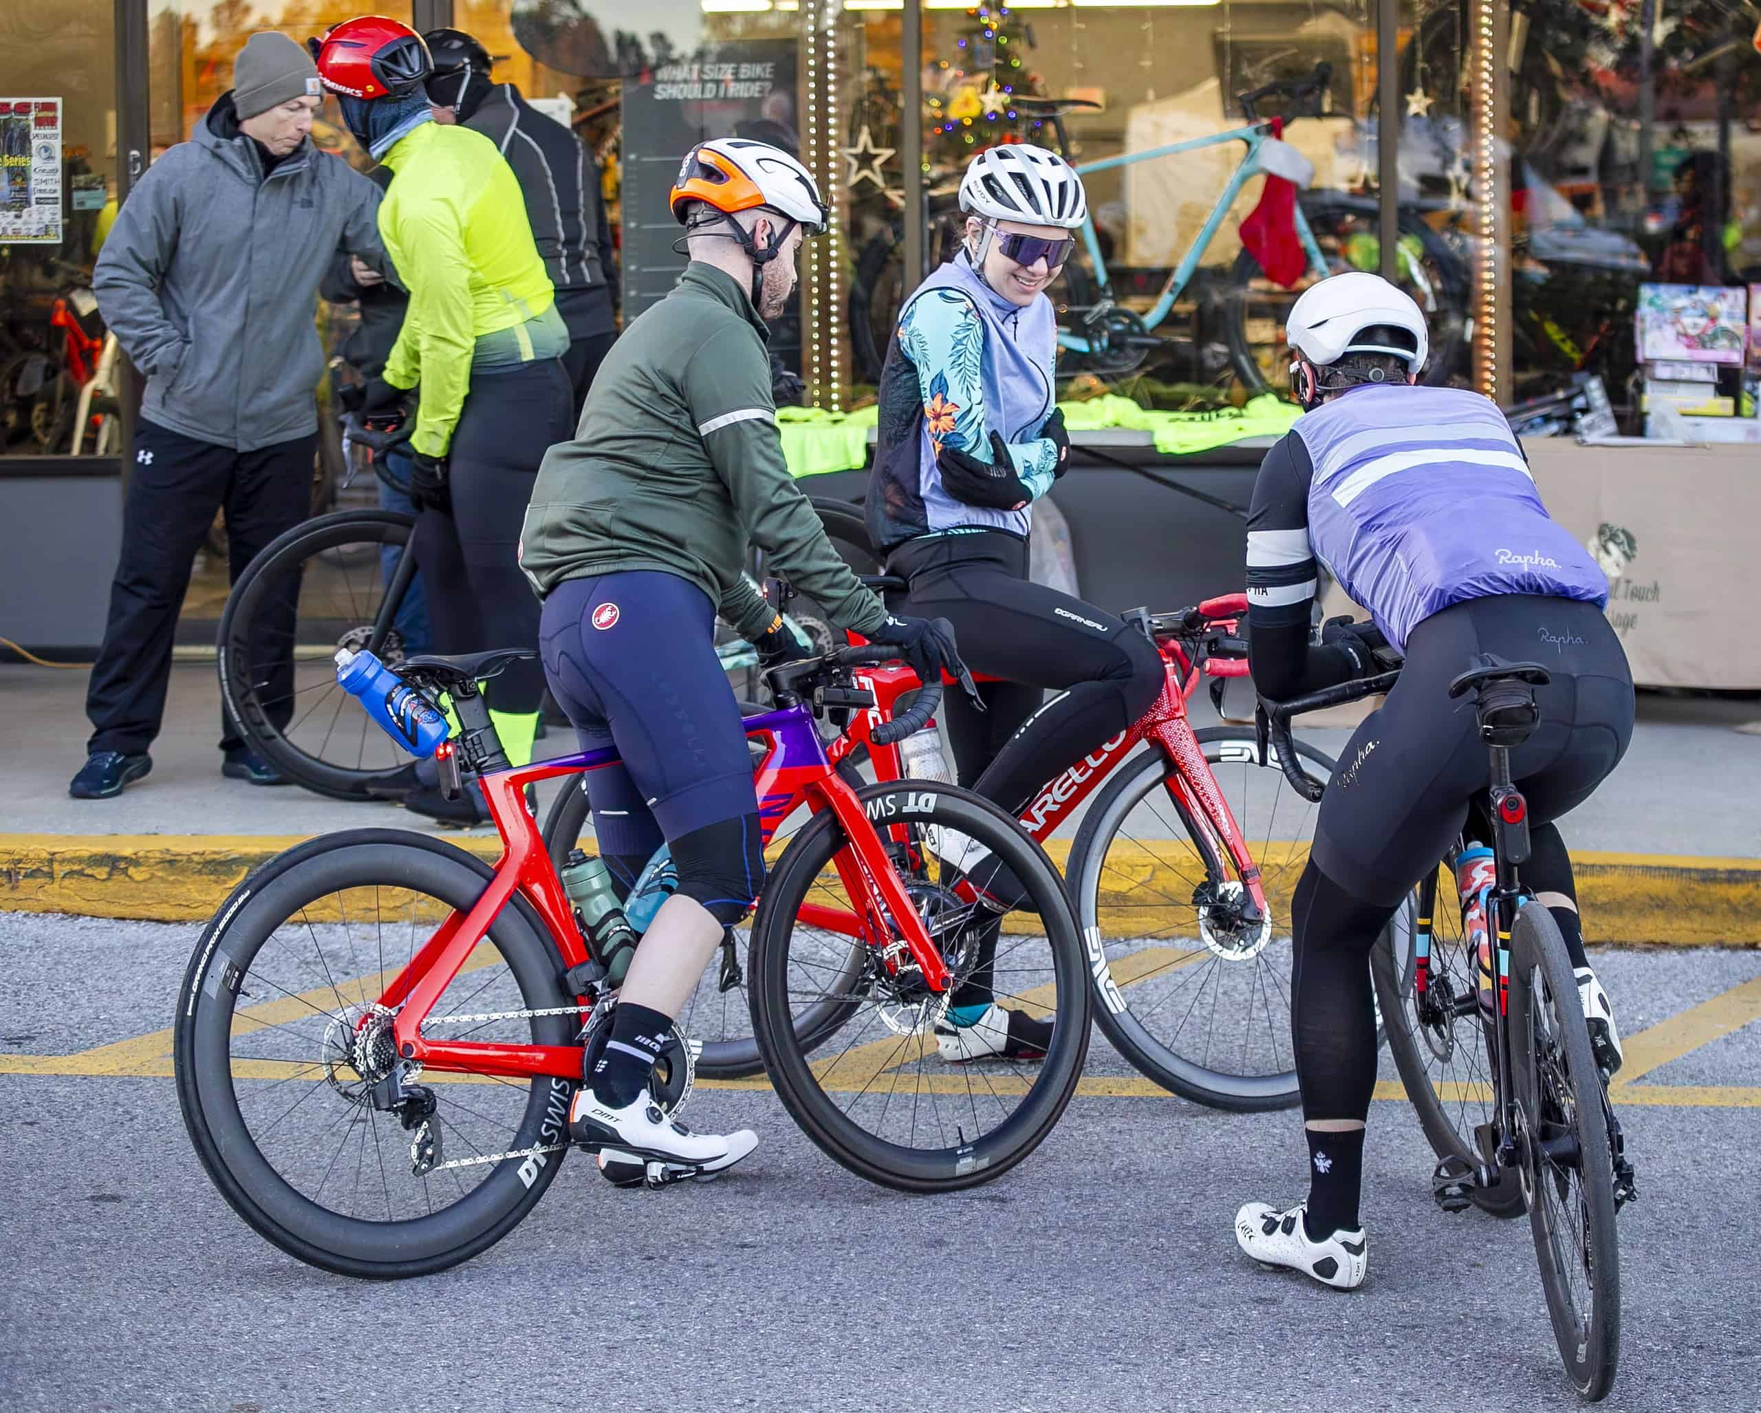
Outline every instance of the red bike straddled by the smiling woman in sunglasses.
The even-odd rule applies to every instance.
[[[863,581],[877,592],[905,587],[875,574]],[[1020,823],[1055,856],[1064,853],[1055,835],[1074,830],[1065,884],[1094,1013],[1113,1048],[1196,1103],[1268,1110],[1300,1099],[1289,900],[1308,858],[1315,805],[1291,788],[1278,749],[1259,742],[1252,726],[1192,724],[1189,703],[1203,677],[1212,678],[1219,715],[1226,680],[1247,677],[1238,636],[1245,613],[1247,597],[1231,594],[1176,613],[1124,615],[1162,655],[1162,694],[1129,731],[1048,780]],[[910,668],[882,664],[856,680],[875,705],[829,743],[831,765],[849,780],[863,779],[863,765],[877,780],[949,779],[932,731],[877,740],[919,691]],[[1330,756],[1303,743],[1294,751],[1312,777],[1330,777]],[[544,826],[553,860],[567,856],[586,823],[581,791],[556,800]],[[757,1073],[736,937],[682,1020],[704,1041],[704,1073]],[[1097,1068],[1101,1055],[1092,1057]]]

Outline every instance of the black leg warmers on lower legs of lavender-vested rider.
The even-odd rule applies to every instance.
[[[1469,833],[1490,839],[1477,802]],[[1571,879],[1566,840],[1553,825],[1529,832],[1529,862],[1523,886],[1536,893],[1562,893],[1573,907],[1550,907],[1566,939],[1574,967],[1585,965],[1583,930],[1578,925],[1578,891]],[[1437,890],[1437,914],[1456,900]],[[1296,883],[1291,923],[1296,955],[1291,964],[1291,1041],[1296,1047],[1296,1078],[1303,1092],[1303,1119],[1358,1119],[1370,1112],[1375,1089],[1375,1006],[1370,999],[1370,948],[1395,916],[1393,907],[1354,899],[1310,860]]]

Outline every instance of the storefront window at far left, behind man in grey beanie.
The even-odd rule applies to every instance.
[[[0,455],[116,455],[90,289],[116,210],[111,0],[0,4]]]

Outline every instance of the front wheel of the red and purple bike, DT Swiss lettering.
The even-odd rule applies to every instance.
[[[778,860],[752,925],[764,1069],[808,1138],[859,1177],[910,1193],[990,1182],[1057,1124],[1088,1050],[1088,990],[1064,881],[1014,819],[970,791],[895,780],[858,798],[954,987],[930,992],[909,953],[900,960],[896,930],[865,939],[854,987],[817,960],[801,909],[847,911],[840,876],[863,876],[826,810]],[[1004,916],[956,893],[963,867],[986,851],[1021,884],[1021,907]],[[951,1010],[962,987],[981,997],[969,1010],[983,1015]],[[847,1013],[835,1031],[801,1024],[828,1002]],[[1007,1011],[1051,1020],[1043,1059],[1014,1045]]]

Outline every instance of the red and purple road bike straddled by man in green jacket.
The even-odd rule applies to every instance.
[[[1058,1121],[1088,990],[1062,879],[1006,812],[940,782],[852,788],[833,766],[814,717],[868,708],[856,675],[882,671],[886,652],[775,668],[775,710],[747,719],[766,844],[784,847],[743,985],[771,1084],[824,1152],[873,1182],[951,1191],[1002,1175]],[[259,1233],[326,1270],[417,1276],[507,1235],[556,1177],[583,1045],[616,1004],[525,803],[527,784],[616,752],[509,768],[477,684],[523,655],[396,668],[451,694],[461,729],[437,759],[453,788],[461,766],[475,773],[504,844],[495,865],[403,830],[299,844],[232,891],[178,994],[178,1099],[204,1168]],[[893,721],[861,715],[863,738],[880,751],[910,735],[940,691]],[[1016,874],[1020,921],[977,900],[944,856],[951,839]],[[991,985],[1051,1017],[1053,1039],[1043,1062],[998,1057],[956,1078],[926,1054],[998,927]],[[669,1112],[694,1068],[676,1029],[657,1068]]]

